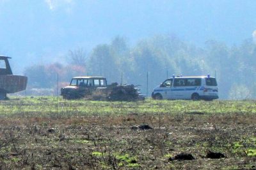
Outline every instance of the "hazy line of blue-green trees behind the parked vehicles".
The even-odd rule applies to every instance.
[[[74,76],[104,76],[109,82],[141,85],[146,94],[172,75],[216,76],[223,99],[256,97],[256,45],[244,40],[240,45],[227,45],[209,40],[204,47],[184,42],[175,36],[158,35],[140,40],[132,47],[122,36],[110,43],[99,44],[90,52],[86,47],[70,50],[67,63],[28,66],[28,88],[65,86]],[[64,57],[63,57],[64,58]],[[65,57],[66,58],[66,57]],[[121,80],[122,79],[122,80]]]

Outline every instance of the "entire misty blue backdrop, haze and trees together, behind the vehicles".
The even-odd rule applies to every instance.
[[[256,1],[0,0],[0,55],[28,91],[74,76],[140,84],[175,75],[217,77],[222,99],[256,97]],[[39,91],[39,92],[38,92]],[[49,94],[50,94],[49,93]]]

